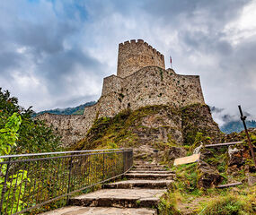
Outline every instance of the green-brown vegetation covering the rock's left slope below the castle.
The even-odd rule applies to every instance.
[[[142,119],[146,116],[153,116],[165,106],[141,107],[136,111],[129,109],[120,112],[118,115],[101,117],[95,120],[93,126],[86,134],[86,137],[71,150],[91,150],[117,147],[132,147],[138,144],[137,131],[144,131],[147,128],[142,125]],[[174,113],[174,110],[172,110]],[[176,113],[177,114],[177,113]]]

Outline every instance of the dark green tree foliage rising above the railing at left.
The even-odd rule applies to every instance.
[[[4,125],[13,113],[19,113],[22,124],[19,140],[13,145],[12,154],[61,150],[59,137],[52,128],[40,120],[34,120],[31,117],[33,115],[31,107],[25,109],[19,106],[17,98],[11,97],[8,90],[2,91],[0,88],[0,129],[5,129]]]

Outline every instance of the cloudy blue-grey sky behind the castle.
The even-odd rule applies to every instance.
[[[208,105],[256,116],[255,0],[1,0],[0,87],[36,111],[97,100],[128,39],[199,74]]]

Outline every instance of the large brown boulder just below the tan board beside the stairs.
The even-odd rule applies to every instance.
[[[198,163],[198,186],[209,188],[222,182],[223,176],[220,176],[216,168],[211,167],[202,160]]]

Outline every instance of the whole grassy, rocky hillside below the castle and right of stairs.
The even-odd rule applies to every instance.
[[[255,144],[256,129],[250,132]],[[247,144],[229,148],[204,147],[205,144],[243,139],[244,133],[221,133],[207,105],[182,108],[162,105],[135,111],[127,109],[114,117],[100,117],[71,150],[131,147],[135,161],[157,161],[166,165],[176,178],[171,192],[160,203],[159,214],[249,215],[256,211],[256,187],[252,185],[256,169]],[[199,162],[172,166],[174,159],[189,156],[197,148],[201,153]],[[235,182],[243,185],[215,189],[217,185]]]

